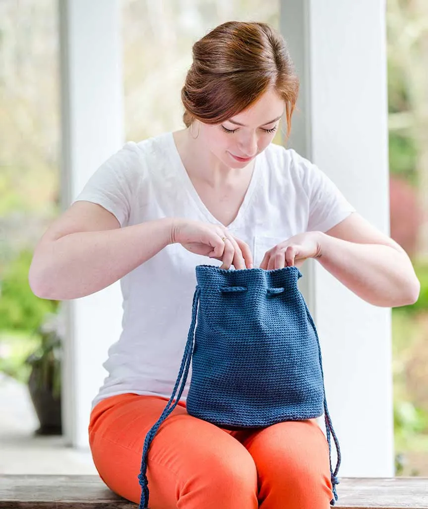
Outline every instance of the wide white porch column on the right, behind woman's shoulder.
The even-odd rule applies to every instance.
[[[301,79],[289,146],[389,235],[385,10],[384,0],[281,0]],[[393,475],[390,309],[362,301],[315,261],[304,276],[340,476]]]

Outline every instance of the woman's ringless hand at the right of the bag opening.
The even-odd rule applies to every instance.
[[[261,269],[300,267],[307,258],[321,256],[321,232],[305,232],[294,235],[266,251]]]

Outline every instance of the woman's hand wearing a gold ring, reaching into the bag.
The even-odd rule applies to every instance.
[[[181,244],[188,251],[215,258],[223,262],[221,269],[253,268],[253,256],[247,243],[240,240],[220,224],[204,223],[190,219],[174,219],[172,243]]]

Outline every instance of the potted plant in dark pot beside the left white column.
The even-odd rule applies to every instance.
[[[40,338],[38,348],[27,357],[31,366],[28,390],[40,421],[38,435],[62,434],[61,358],[64,337],[62,313],[49,314],[35,330]]]

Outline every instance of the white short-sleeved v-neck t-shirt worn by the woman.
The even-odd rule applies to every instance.
[[[193,187],[171,132],[127,143],[97,169],[77,196],[81,200],[110,211],[122,228],[163,217],[221,224]],[[279,242],[301,232],[326,232],[354,211],[317,166],[294,150],[270,144],[256,157],[249,188],[228,230],[248,243],[258,267]],[[172,244],[121,278],[123,330],[109,348],[103,364],[108,376],[93,407],[126,392],[171,397],[200,264],[221,262]],[[182,401],[191,375],[190,370]]]

